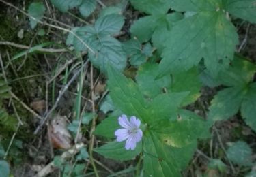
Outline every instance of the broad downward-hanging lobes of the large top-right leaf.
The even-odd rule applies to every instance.
[[[236,28],[222,12],[199,12],[184,18],[169,33],[158,77],[190,69],[202,58],[216,76],[229,66],[236,44]]]

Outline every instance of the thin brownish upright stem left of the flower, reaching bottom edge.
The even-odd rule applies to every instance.
[[[95,113],[95,104],[94,104],[94,67],[91,65],[91,100],[92,102],[92,112]],[[94,157],[92,155],[92,151],[94,148],[94,130],[95,130],[95,126],[96,126],[96,116],[94,116],[94,118],[92,119],[92,123],[91,123],[91,131],[90,131],[90,144],[89,144],[89,157],[90,157],[90,161],[91,161],[91,165],[94,168],[94,172],[96,177],[99,177],[98,172],[97,172],[97,168],[96,165],[94,163]]]

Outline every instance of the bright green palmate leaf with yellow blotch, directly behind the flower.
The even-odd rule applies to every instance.
[[[146,176],[181,176],[180,171],[196,149],[197,138],[204,138],[209,127],[201,118],[178,110],[188,93],[164,93],[154,99],[145,99],[135,82],[111,66],[108,71],[109,94],[115,106],[128,116],[140,118],[147,128],[143,132],[142,151],[127,151],[124,142],[111,142],[96,152],[113,159],[130,159],[142,152]],[[179,112],[181,119],[177,116]],[[109,137],[112,137],[114,129],[110,126],[117,125],[117,117],[106,118],[96,134],[104,135],[109,128],[112,132]]]

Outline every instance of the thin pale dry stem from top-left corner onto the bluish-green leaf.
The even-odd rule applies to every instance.
[[[56,25],[52,25],[48,22],[42,22],[41,20],[38,20],[36,18],[34,18],[33,16],[30,16],[29,14],[27,14],[26,12],[24,12],[23,10],[20,10],[18,7],[16,7],[15,5],[12,5],[12,3],[8,3],[6,1],[0,0],[0,2],[4,3],[5,5],[9,5],[10,7],[13,7],[14,9],[18,10],[18,12],[21,12],[23,14],[25,14],[26,16],[28,16],[29,18],[35,20],[36,22],[42,24],[42,25],[47,25],[48,27],[53,27],[55,29],[60,29],[61,31],[66,31],[72,35],[74,35],[74,37],[76,37],[76,39],[79,39],[79,41],[85,45],[86,48],[88,48],[88,50],[92,53],[92,54],[96,54],[96,52],[94,52],[94,50],[92,50],[92,48],[90,46],[88,46],[88,44],[86,44],[83,39],[81,39],[78,35],[76,35],[76,33],[74,33],[74,31],[71,31],[70,29],[65,29],[63,27],[58,27]]]

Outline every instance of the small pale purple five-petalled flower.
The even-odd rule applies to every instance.
[[[126,140],[126,150],[134,150],[136,148],[136,143],[141,141],[142,131],[139,129],[141,125],[141,120],[135,116],[130,117],[130,122],[126,115],[119,116],[118,123],[124,129],[117,129],[115,135],[117,136],[117,142],[123,142]]]

